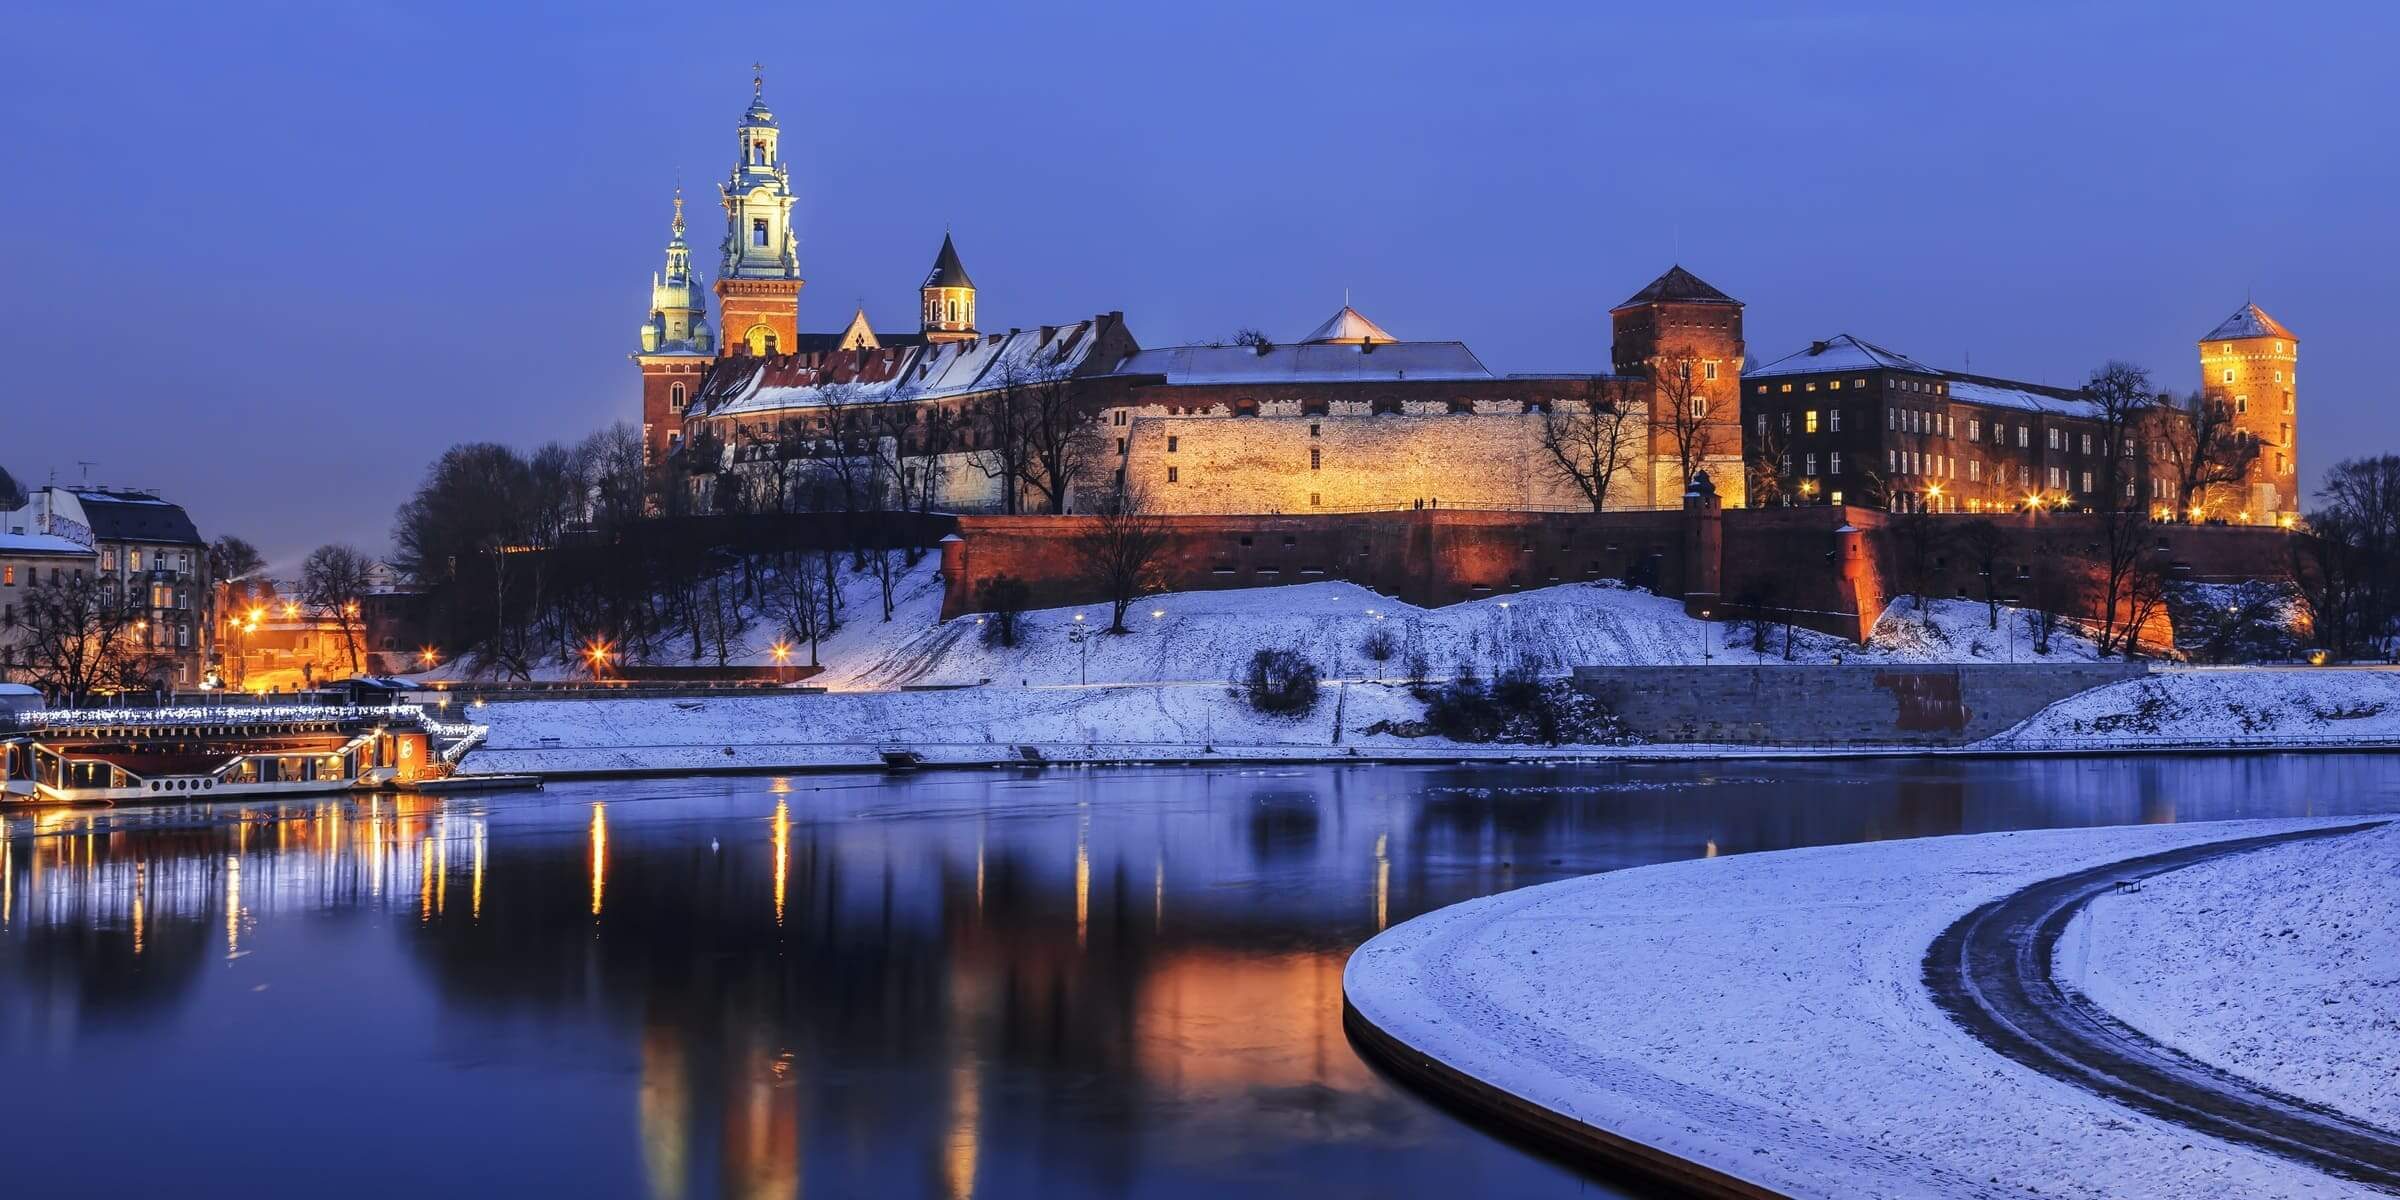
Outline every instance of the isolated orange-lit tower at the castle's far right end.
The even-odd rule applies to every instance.
[[[2239,494],[2210,504],[2210,516],[2275,526],[2299,518],[2299,338],[2258,305],[2201,338],[2201,391],[2222,398],[2234,430],[2258,439],[2258,458]]]

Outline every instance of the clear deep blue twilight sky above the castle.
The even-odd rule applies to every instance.
[[[986,329],[1289,338],[1349,288],[1500,372],[1603,367],[1682,262],[1752,362],[1850,331],[2191,389],[2249,290],[2302,338],[2309,487],[2400,451],[2400,12],[2093,7],[19,7],[0,463],[278,566],[384,552],[451,442],[636,415],[667,199],[713,262],[751,60],[806,329],[907,329],[943,223]]]

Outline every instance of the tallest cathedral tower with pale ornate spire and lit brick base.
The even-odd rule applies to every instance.
[[[751,77],[751,106],[742,113],[739,134],[742,156],[718,185],[725,199],[725,257],[718,264],[725,353],[790,353],[799,334],[802,288],[792,170],[775,149],[780,132],[758,77]]]

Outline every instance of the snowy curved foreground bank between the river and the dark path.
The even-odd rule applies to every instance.
[[[2016,1066],[1922,986],[1925,948],[1980,902],[2311,823],[2328,821],[1990,833],[1613,871],[1399,924],[1358,948],[1344,986],[1373,1025],[1457,1070],[1790,1195],[2381,1195]]]

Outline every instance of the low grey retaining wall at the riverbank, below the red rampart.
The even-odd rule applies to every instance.
[[[1574,667],[1574,686],[1649,742],[1961,746],[2146,672],[2141,662]]]

